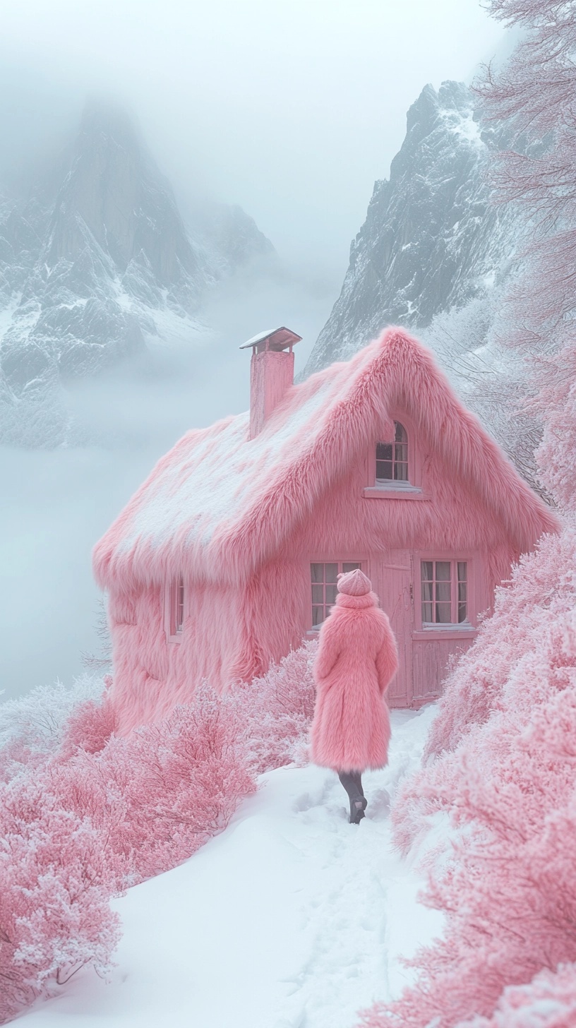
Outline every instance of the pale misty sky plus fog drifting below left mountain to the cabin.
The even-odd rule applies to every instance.
[[[503,37],[476,0],[0,0],[0,180],[25,189],[101,94],[138,117],[183,212],[203,194],[240,204],[288,266],[222,285],[202,352],[78,383],[75,412],[116,445],[0,447],[6,698],[80,670],[94,543],[186,429],[246,409],[242,339],[291,325],[303,366],[407,108],[427,82],[470,80]]]

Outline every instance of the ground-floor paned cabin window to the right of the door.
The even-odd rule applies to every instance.
[[[421,560],[423,628],[468,623],[466,560]]]

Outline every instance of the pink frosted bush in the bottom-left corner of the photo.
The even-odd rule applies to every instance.
[[[85,964],[107,974],[119,935],[115,889],[104,838],[44,780],[0,786],[0,1021],[49,978]]]

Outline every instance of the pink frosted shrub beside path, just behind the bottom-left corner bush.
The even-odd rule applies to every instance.
[[[205,684],[157,725],[55,760],[51,788],[106,837],[115,873],[141,881],[189,857],[254,791],[243,735],[238,705]]]

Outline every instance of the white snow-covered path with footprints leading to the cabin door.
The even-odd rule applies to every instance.
[[[439,930],[390,846],[389,807],[432,717],[394,711],[391,761],[365,776],[360,825],[337,778],[280,768],[190,860],[117,901],[111,984],[82,971],[23,1028],[352,1028],[397,995],[398,958]]]

